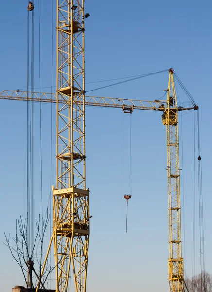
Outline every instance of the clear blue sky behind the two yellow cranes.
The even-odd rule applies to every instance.
[[[55,2],[55,1],[54,1]],[[26,88],[28,1],[0,4],[0,91]],[[35,0],[35,81],[38,77],[38,1]],[[51,5],[41,1],[41,87],[51,86]],[[209,0],[199,1],[86,1],[86,82],[120,78],[174,68],[200,107],[201,156],[205,223],[205,267],[212,273],[211,191],[212,138],[209,87],[211,82],[211,10]],[[54,3],[54,24],[55,23]],[[53,86],[55,29],[53,31]],[[92,91],[93,95],[154,100],[167,88],[168,73],[123,85]],[[86,90],[107,83],[87,84]],[[187,97],[177,86],[180,100]],[[43,88],[42,91],[50,91]],[[90,94],[89,93],[89,94]],[[90,94],[91,95],[91,94]],[[24,281],[3,245],[4,231],[15,233],[15,220],[26,213],[26,104],[0,100],[0,275],[2,289],[10,292]],[[53,106],[53,167],[55,184],[55,107]],[[184,114],[184,113],[183,113]],[[40,213],[39,105],[35,105],[35,214]],[[134,111],[132,116],[132,199],[125,233],[123,198],[123,112],[87,108],[87,186],[91,190],[91,237],[88,291],[168,292],[168,208],[166,133],[160,113]],[[129,139],[129,115],[125,138]],[[194,112],[180,117],[183,140],[186,274],[192,275],[194,187]],[[50,105],[42,105],[42,156],[44,205],[50,194]],[[181,143],[182,145],[182,143]],[[125,152],[129,151],[126,142]],[[182,154],[182,148],[180,146]],[[182,155],[181,155],[182,156]],[[182,157],[181,157],[182,158]],[[182,166],[182,159],[181,159]],[[181,167],[182,168],[182,167]],[[181,179],[182,183],[182,179]],[[197,180],[196,180],[197,183]],[[126,174],[126,185],[129,173]],[[181,184],[182,187],[182,184]],[[126,186],[127,188],[127,186]],[[183,192],[181,192],[182,194]],[[183,195],[183,194],[182,194]],[[198,199],[196,194],[196,201]],[[48,231],[50,233],[50,230]],[[196,207],[195,271],[199,273],[198,208]],[[184,233],[183,233],[184,234]],[[185,249],[184,249],[185,247]],[[53,285],[53,284],[52,284]],[[71,290],[74,291],[74,290]]]

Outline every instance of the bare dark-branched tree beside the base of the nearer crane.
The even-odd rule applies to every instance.
[[[43,245],[46,229],[49,222],[49,215],[47,214],[46,219],[41,219],[40,216],[36,222],[36,235],[29,250],[29,234],[28,234],[28,222],[27,219],[16,220],[16,233],[15,237],[12,238],[13,245],[10,243],[10,235],[7,236],[5,233],[6,243],[5,245],[9,248],[11,255],[18,263],[27,288],[38,288],[38,290],[45,289],[45,283],[48,279],[49,274],[53,271],[54,267],[48,264],[45,266],[45,270],[41,273],[43,268]],[[36,260],[36,263],[33,261]],[[35,271],[35,266],[38,266],[37,272]],[[34,273],[34,276],[33,276]],[[42,276],[41,276],[42,274]],[[35,284],[33,283],[33,278],[35,277]]]

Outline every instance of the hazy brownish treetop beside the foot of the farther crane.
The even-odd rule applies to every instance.
[[[212,292],[212,274],[202,272],[192,278],[186,278],[188,292]]]

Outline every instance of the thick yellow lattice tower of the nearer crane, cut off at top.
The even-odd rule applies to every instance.
[[[86,291],[89,189],[85,173],[84,0],[57,0],[57,184],[53,187],[56,291]],[[63,104],[59,102],[63,100]]]

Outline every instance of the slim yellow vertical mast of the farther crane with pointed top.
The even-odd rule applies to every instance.
[[[168,277],[171,292],[183,292],[184,271],[181,247],[180,169],[178,107],[173,78],[169,70],[167,105],[162,115],[166,125],[167,138],[167,178],[169,215],[169,260]]]

